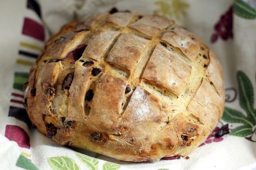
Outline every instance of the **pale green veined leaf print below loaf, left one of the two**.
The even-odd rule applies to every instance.
[[[66,156],[48,158],[49,166],[54,170],[79,170],[76,162]]]

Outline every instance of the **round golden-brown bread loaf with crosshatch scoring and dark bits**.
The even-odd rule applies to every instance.
[[[61,145],[124,161],[186,156],[224,111],[214,53],[157,15],[91,15],[51,37],[31,69],[25,106]]]

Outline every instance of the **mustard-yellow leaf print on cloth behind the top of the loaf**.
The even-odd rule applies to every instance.
[[[189,4],[182,2],[181,0],[159,0],[155,2],[159,9],[155,10],[155,13],[162,16],[175,17],[180,19],[180,15],[186,16],[186,9],[189,8]]]

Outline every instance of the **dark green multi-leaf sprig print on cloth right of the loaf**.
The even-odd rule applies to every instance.
[[[237,137],[246,137],[253,133],[256,125],[256,110],[254,104],[254,92],[250,79],[242,71],[237,72],[239,104],[246,114],[233,108],[225,107],[222,119],[228,123],[241,123],[243,125],[234,128],[229,134]],[[246,138],[252,141],[252,138]]]

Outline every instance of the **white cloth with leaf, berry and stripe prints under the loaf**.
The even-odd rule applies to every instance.
[[[173,18],[196,33],[220,59],[226,86],[224,116],[187,158],[141,164],[117,161],[61,147],[31,126],[23,107],[22,84],[44,42],[71,19],[113,7]],[[256,0],[2,1],[0,169],[255,169],[255,9]],[[229,134],[217,138],[224,127]]]

